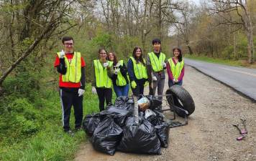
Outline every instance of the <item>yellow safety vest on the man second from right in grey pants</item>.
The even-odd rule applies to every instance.
[[[151,62],[153,71],[154,72],[162,71],[163,70],[162,63],[165,62],[165,54],[160,52],[159,58],[155,55],[154,52],[150,52],[150,53],[148,53],[148,55],[150,57],[150,62]]]

